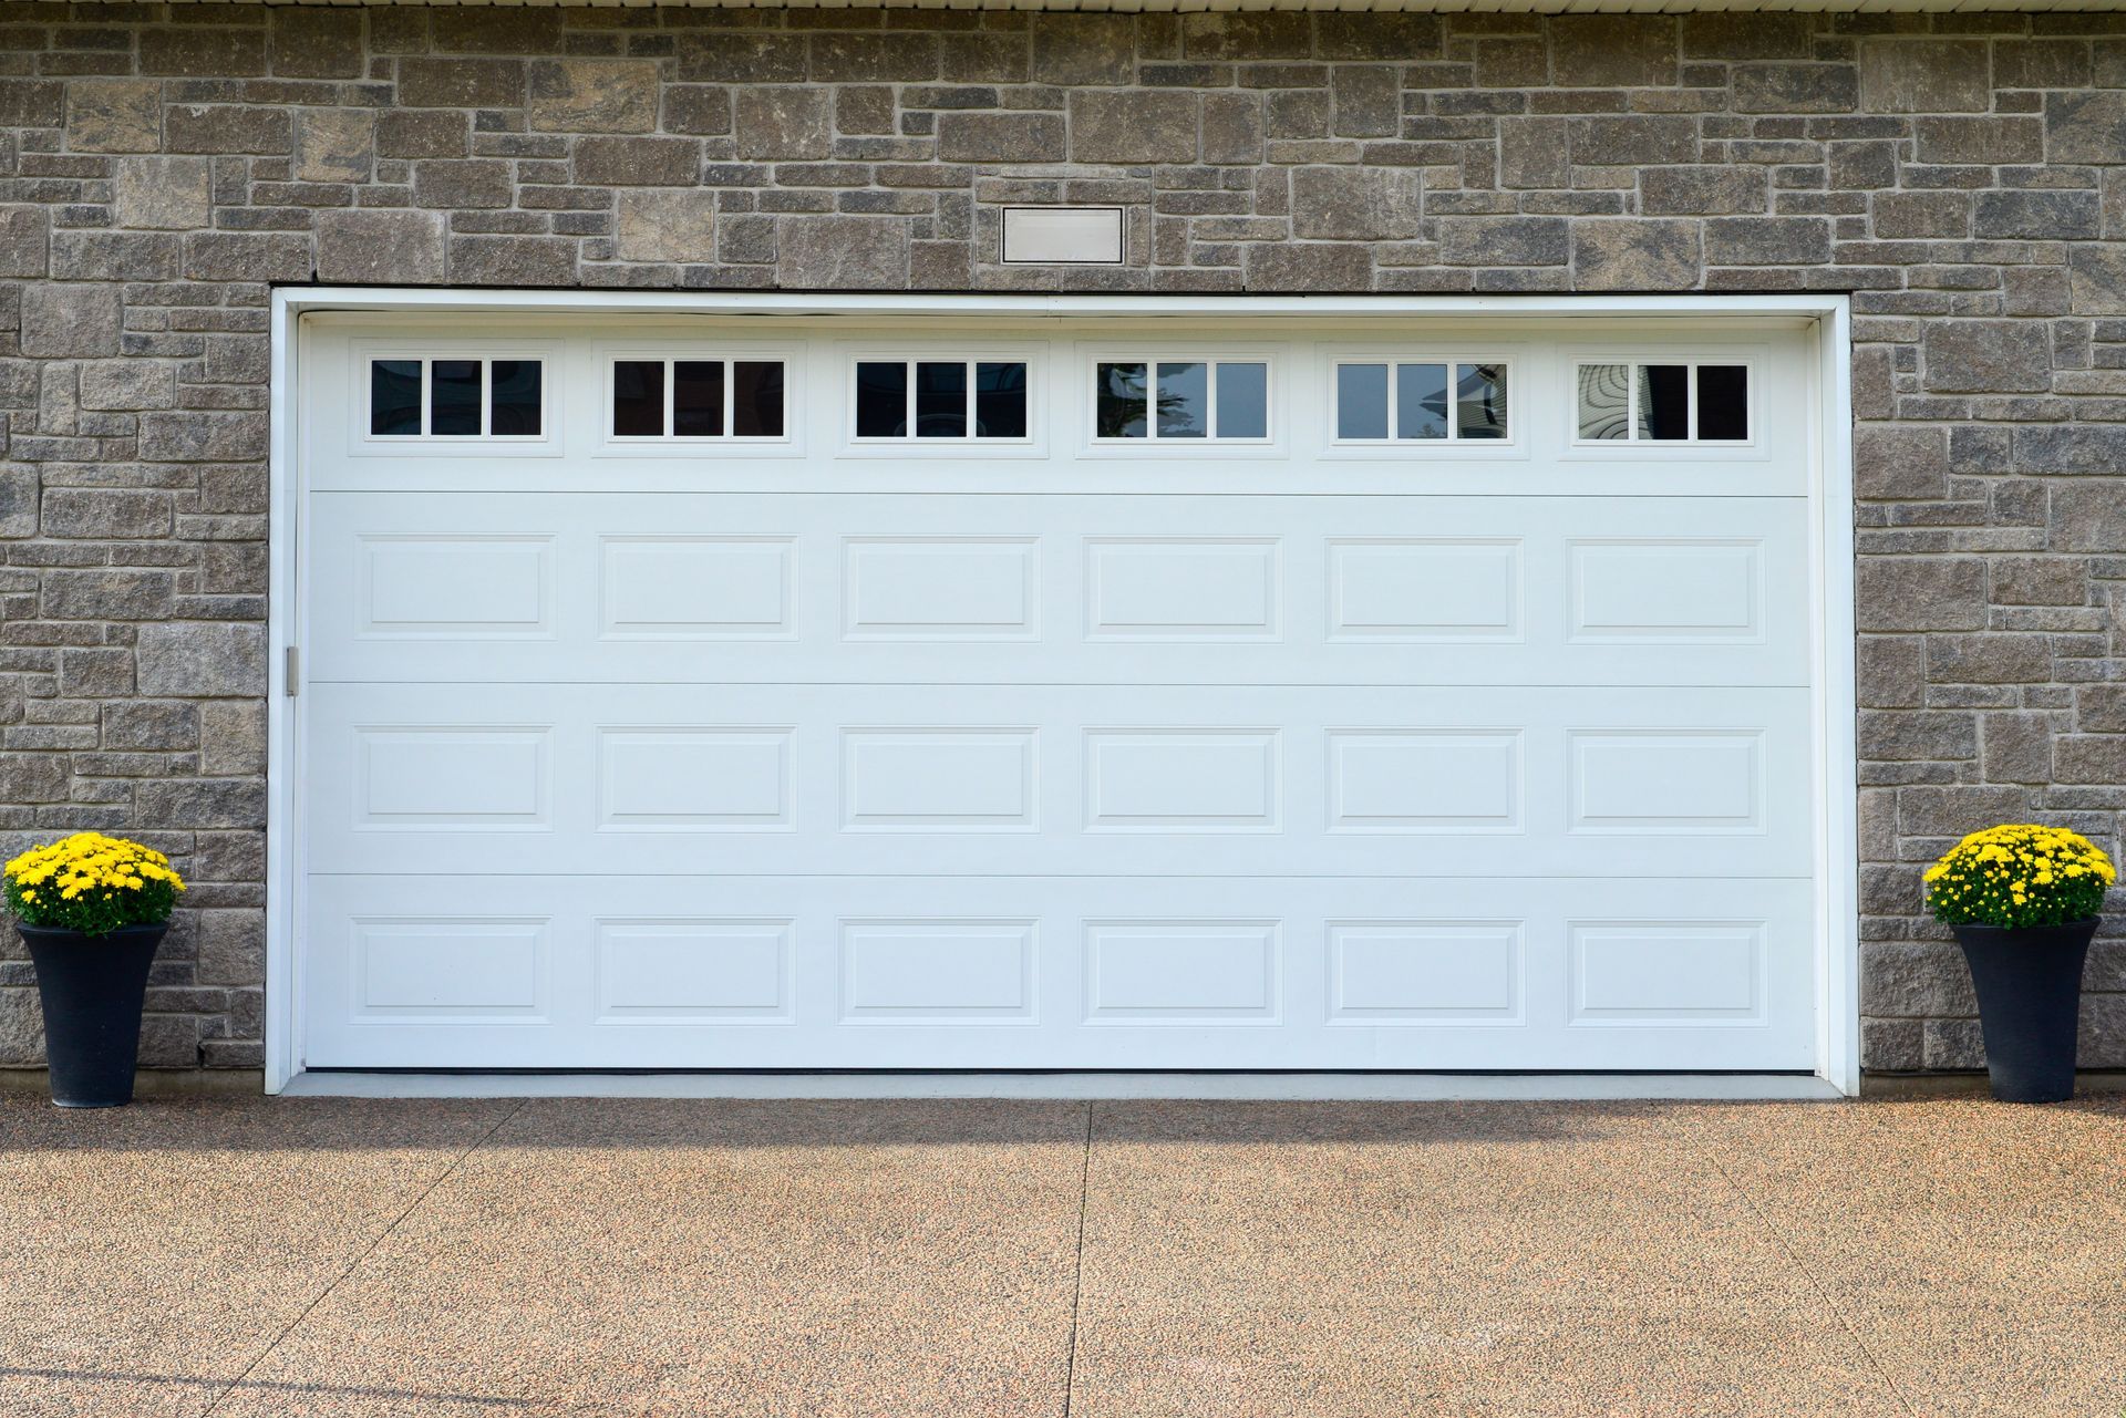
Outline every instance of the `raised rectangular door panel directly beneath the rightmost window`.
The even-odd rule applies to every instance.
[[[1573,640],[1765,638],[1756,540],[1571,542]]]

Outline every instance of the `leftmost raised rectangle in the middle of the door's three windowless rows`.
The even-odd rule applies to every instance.
[[[546,829],[546,729],[355,729],[355,827]]]

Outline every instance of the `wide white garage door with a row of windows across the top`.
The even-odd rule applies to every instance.
[[[1801,330],[304,370],[313,1067],[1816,1063]]]

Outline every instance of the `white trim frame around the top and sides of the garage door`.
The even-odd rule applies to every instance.
[[[746,291],[466,291],[304,287],[272,296],[272,514],[270,514],[270,706],[268,706],[268,929],[266,1091],[281,1093],[304,1067],[302,918],[304,842],[300,797],[300,687],[293,646],[302,625],[298,510],[306,504],[300,457],[300,374],[308,313],[378,315],[791,315],[791,317],[1127,317],[1350,321],[1390,319],[1560,321],[1673,319],[1813,323],[1809,368],[1809,617],[1813,672],[1816,1074],[1839,1093],[1860,1086],[1858,1014],[1858,772],[1854,746],[1854,531],[1852,531],[1852,313],[1843,296],[799,296]],[[1620,1080],[1624,1082],[1624,1080]],[[1629,1088],[1629,1082],[1624,1084]],[[1650,1084],[1652,1091],[1652,1084]]]

